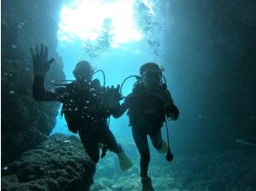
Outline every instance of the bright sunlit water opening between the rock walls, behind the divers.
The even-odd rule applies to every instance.
[[[139,66],[162,62],[165,21],[169,19],[158,0],[64,0],[58,23],[57,52],[64,63],[65,79],[74,80],[76,63],[88,60],[103,69],[106,85],[121,84],[127,76],[138,75]],[[93,76],[103,84],[103,76]],[[122,93],[131,92],[136,79],[125,82]],[[126,115],[111,120],[116,135],[131,134]],[[57,132],[72,135],[64,118],[57,117]]]

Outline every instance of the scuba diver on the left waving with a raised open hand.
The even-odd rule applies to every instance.
[[[67,126],[71,132],[78,132],[92,161],[98,163],[99,143],[102,143],[118,155],[123,171],[131,168],[131,161],[107,125],[107,118],[119,106],[118,88],[111,86],[106,89],[100,85],[98,79],[92,80],[94,70],[91,63],[80,61],[73,70],[75,81],[56,89],[45,90],[44,77],[54,59],[48,61],[48,48],[44,44],[41,44],[40,48],[36,45],[35,50],[36,53],[30,48],[35,76],[33,82],[35,100],[63,103],[62,113]]]

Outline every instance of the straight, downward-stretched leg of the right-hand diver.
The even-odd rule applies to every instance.
[[[140,176],[147,177],[150,162],[150,150],[144,127],[132,126],[132,136],[140,154]]]

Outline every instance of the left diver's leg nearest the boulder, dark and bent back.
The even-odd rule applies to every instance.
[[[80,139],[84,145],[86,153],[91,157],[91,160],[95,163],[98,163],[99,160],[99,149],[98,149],[98,140],[95,136],[88,134],[88,132],[84,132],[78,130],[78,134]]]

